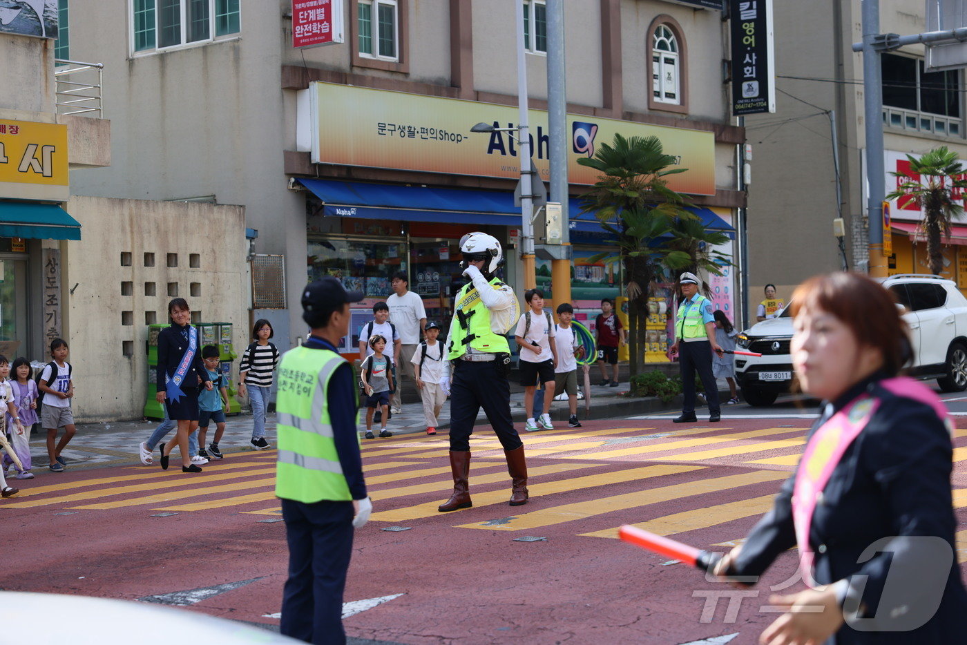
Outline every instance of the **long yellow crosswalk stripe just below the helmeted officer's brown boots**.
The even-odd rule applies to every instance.
[[[565,504],[563,506],[541,509],[531,513],[523,513],[514,517],[507,518],[503,523],[491,525],[489,522],[475,522],[473,524],[461,524],[459,528],[466,529],[486,529],[491,531],[521,531],[524,529],[536,529],[552,524],[570,522],[575,519],[583,519],[592,515],[603,513],[614,513],[615,511],[626,511],[636,507],[649,506],[659,502],[701,495],[704,493],[718,492],[726,488],[734,488],[748,484],[763,484],[774,482],[778,479],[785,479],[788,473],[773,470],[759,470],[739,475],[727,475],[705,480],[695,480],[682,484],[672,484],[659,488],[647,488],[614,495],[612,497],[602,497],[585,502]]]

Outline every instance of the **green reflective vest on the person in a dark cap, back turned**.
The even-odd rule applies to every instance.
[[[282,355],[276,396],[276,495],[282,499],[352,501],[327,405],[329,381],[344,363],[328,349],[296,347]]]

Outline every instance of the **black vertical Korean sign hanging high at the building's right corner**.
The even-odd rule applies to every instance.
[[[729,0],[732,114],[776,111],[773,0]]]

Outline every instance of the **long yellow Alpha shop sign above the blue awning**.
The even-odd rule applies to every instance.
[[[516,128],[517,108],[476,101],[314,81],[299,100],[299,149],[313,163],[419,170],[481,177],[520,177],[518,146],[508,132],[470,132],[477,123]],[[547,112],[530,110],[533,161],[544,181],[550,171]],[[675,167],[669,188],[715,194],[715,133],[568,114],[568,179],[594,184],[598,171],[577,160],[623,136],[657,136]],[[515,132],[514,132],[515,134]]]

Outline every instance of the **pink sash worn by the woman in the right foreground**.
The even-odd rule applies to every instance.
[[[912,398],[929,405],[948,429],[952,429],[947,408],[923,383],[906,376],[898,376],[880,381],[879,385],[896,396]],[[812,579],[814,554],[809,547],[812,514],[842,455],[860,436],[879,406],[879,399],[873,396],[857,396],[815,431],[806,445],[803,458],[800,459],[793,488],[792,515],[796,527],[796,542],[799,543],[800,571],[803,573],[803,580],[810,586],[816,584]]]

